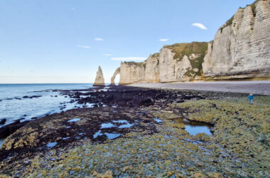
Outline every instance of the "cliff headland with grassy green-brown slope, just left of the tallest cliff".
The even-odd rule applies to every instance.
[[[176,43],[160,51],[161,82],[187,81],[200,78],[207,43]]]

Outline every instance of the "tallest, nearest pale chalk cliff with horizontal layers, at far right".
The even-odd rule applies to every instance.
[[[238,9],[208,44],[202,64],[205,78],[270,76],[270,1]]]

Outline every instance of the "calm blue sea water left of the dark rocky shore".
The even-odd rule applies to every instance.
[[[24,118],[21,121],[31,120],[32,117],[42,117],[47,114],[75,108],[76,103],[68,103],[70,98],[59,95],[52,90],[70,90],[92,88],[90,84],[0,84],[0,120],[7,119],[5,125]],[[23,96],[41,95],[40,98],[23,98]],[[58,97],[55,97],[57,95]],[[20,98],[20,99],[18,99]],[[77,105],[77,107],[82,107]],[[3,127],[4,125],[0,125]]]

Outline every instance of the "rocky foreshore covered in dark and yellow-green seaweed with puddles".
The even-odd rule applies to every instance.
[[[91,105],[26,123],[0,177],[268,177],[269,96],[115,86],[63,90]],[[201,127],[210,132],[193,134]]]

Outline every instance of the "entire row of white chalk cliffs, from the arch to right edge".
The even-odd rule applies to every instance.
[[[213,41],[163,46],[143,63],[122,62],[116,73],[120,73],[119,84],[269,79],[270,0],[239,8]]]

